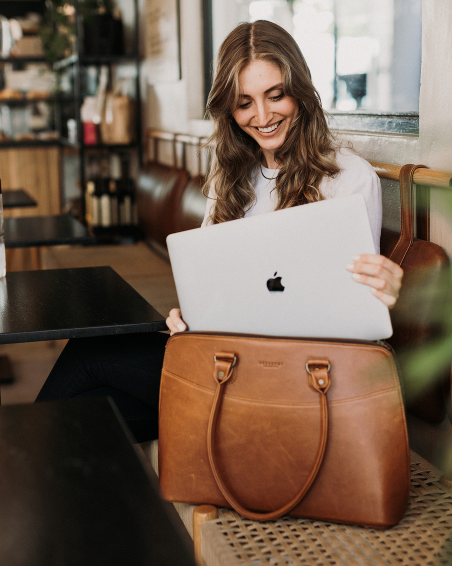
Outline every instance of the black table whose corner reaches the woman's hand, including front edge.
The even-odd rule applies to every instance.
[[[13,271],[0,280],[0,344],[160,330],[163,316],[111,267]]]

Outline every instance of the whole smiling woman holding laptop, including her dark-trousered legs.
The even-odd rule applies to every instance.
[[[261,20],[229,34],[207,112],[215,124],[215,160],[204,225],[360,192],[378,249],[379,180],[366,161],[334,147],[305,59],[284,29]],[[394,305],[402,269],[381,255],[353,259],[346,266],[351,276]],[[179,309],[169,313],[167,325],[171,335],[186,329]],[[151,333],[71,340],[37,400],[110,395],[137,441],[157,438],[167,338]]]

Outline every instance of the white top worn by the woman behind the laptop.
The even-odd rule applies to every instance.
[[[320,182],[320,192],[325,199],[334,199],[354,194],[362,194],[366,201],[367,214],[369,216],[373,241],[377,253],[380,253],[381,232],[381,186],[372,165],[351,151],[351,149],[340,148],[336,152],[336,161],[340,167],[336,177],[324,177]],[[254,187],[256,200],[253,207],[245,213],[247,216],[256,216],[275,210],[277,197],[273,191],[276,185],[277,169],[262,168],[266,177],[272,177],[269,181],[261,171],[258,172],[257,182]],[[214,190],[210,190],[206,205],[206,213],[202,226],[206,226],[210,213],[215,206]]]

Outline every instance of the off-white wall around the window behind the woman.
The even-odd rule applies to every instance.
[[[141,0],[144,3],[144,0]],[[200,0],[181,2],[182,80],[148,88],[147,126],[204,135]],[[452,171],[452,2],[423,0],[422,68],[417,135],[344,134],[360,155],[394,164]],[[452,176],[452,175],[451,175]],[[452,191],[432,191],[431,238],[452,257]]]

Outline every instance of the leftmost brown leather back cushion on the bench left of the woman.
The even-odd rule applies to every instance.
[[[138,174],[138,224],[146,241],[166,248],[166,237],[177,230],[180,203],[188,181],[185,170],[150,163]]]

